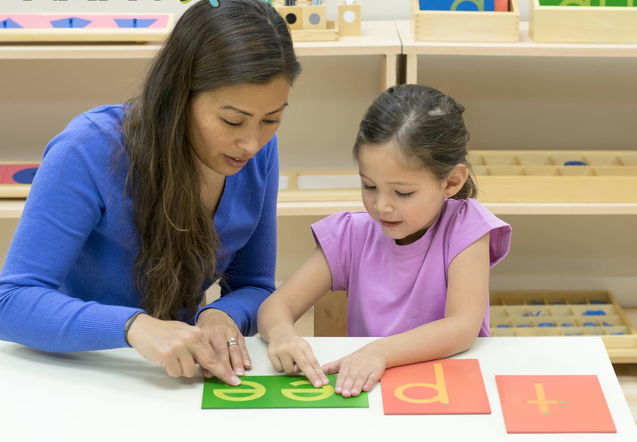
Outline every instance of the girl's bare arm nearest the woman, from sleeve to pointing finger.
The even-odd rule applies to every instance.
[[[332,273],[320,246],[294,274],[259,308],[257,323],[261,337],[269,342],[268,357],[276,371],[303,373],[315,387],[329,380],[310,345],[294,331],[296,322],[332,287]]]

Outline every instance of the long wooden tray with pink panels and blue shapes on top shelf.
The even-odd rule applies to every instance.
[[[162,41],[175,14],[39,14],[0,13],[0,42]]]

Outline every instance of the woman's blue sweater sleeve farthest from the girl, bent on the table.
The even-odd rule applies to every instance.
[[[124,324],[140,309],[60,291],[101,219],[110,160],[83,115],[48,144],[0,273],[0,340],[48,352],[128,347]]]

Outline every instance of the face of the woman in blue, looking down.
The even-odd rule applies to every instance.
[[[236,174],[274,136],[289,93],[282,76],[200,93],[190,105],[188,130],[199,161],[217,174]]]

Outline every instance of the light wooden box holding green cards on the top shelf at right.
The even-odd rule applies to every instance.
[[[637,7],[541,6],[529,0],[536,43],[637,43]]]

